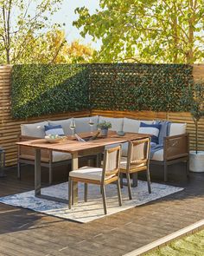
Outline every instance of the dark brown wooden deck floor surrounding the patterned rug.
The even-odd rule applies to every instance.
[[[34,168],[16,167],[0,178],[0,196],[34,189]],[[54,181],[67,181],[65,168],[54,171]],[[162,167],[154,167],[152,181],[162,182]],[[141,177],[143,179],[143,176]],[[48,182],[48,170],[42,171]],[[185,176],[184,165],[169,167],[169,184],[185,187],[177,194],[87,224],[0,204],[0,255],[123,255],[203,219],[204,173]]]

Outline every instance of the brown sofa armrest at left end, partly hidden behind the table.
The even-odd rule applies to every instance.
[[[19,136],[19,141],[29,141],[29,140],[37,140],[40,138],[37,137],[31,137],[31,136]],[[35,159],[35,149],[29,148],[26,146],[18,145],[18,159]],[[41,149],[41,161],[52,161],[52,150],[48,149]]]

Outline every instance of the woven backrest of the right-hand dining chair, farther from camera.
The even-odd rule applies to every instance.
[[[129,141],[127,167],[143,165],[148,166],[150,162],[150,138],[137,141]]]

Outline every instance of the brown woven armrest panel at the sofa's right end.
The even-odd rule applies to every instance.
[[[189,155],[189,136],[175,135],[165,137],[163,141],[163,160],[174,160]]]

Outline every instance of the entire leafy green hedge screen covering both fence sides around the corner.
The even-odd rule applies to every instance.
[[[15,65],[15,118],[83,109],[186,111],[182,91],[193,83],[184,64]]]

